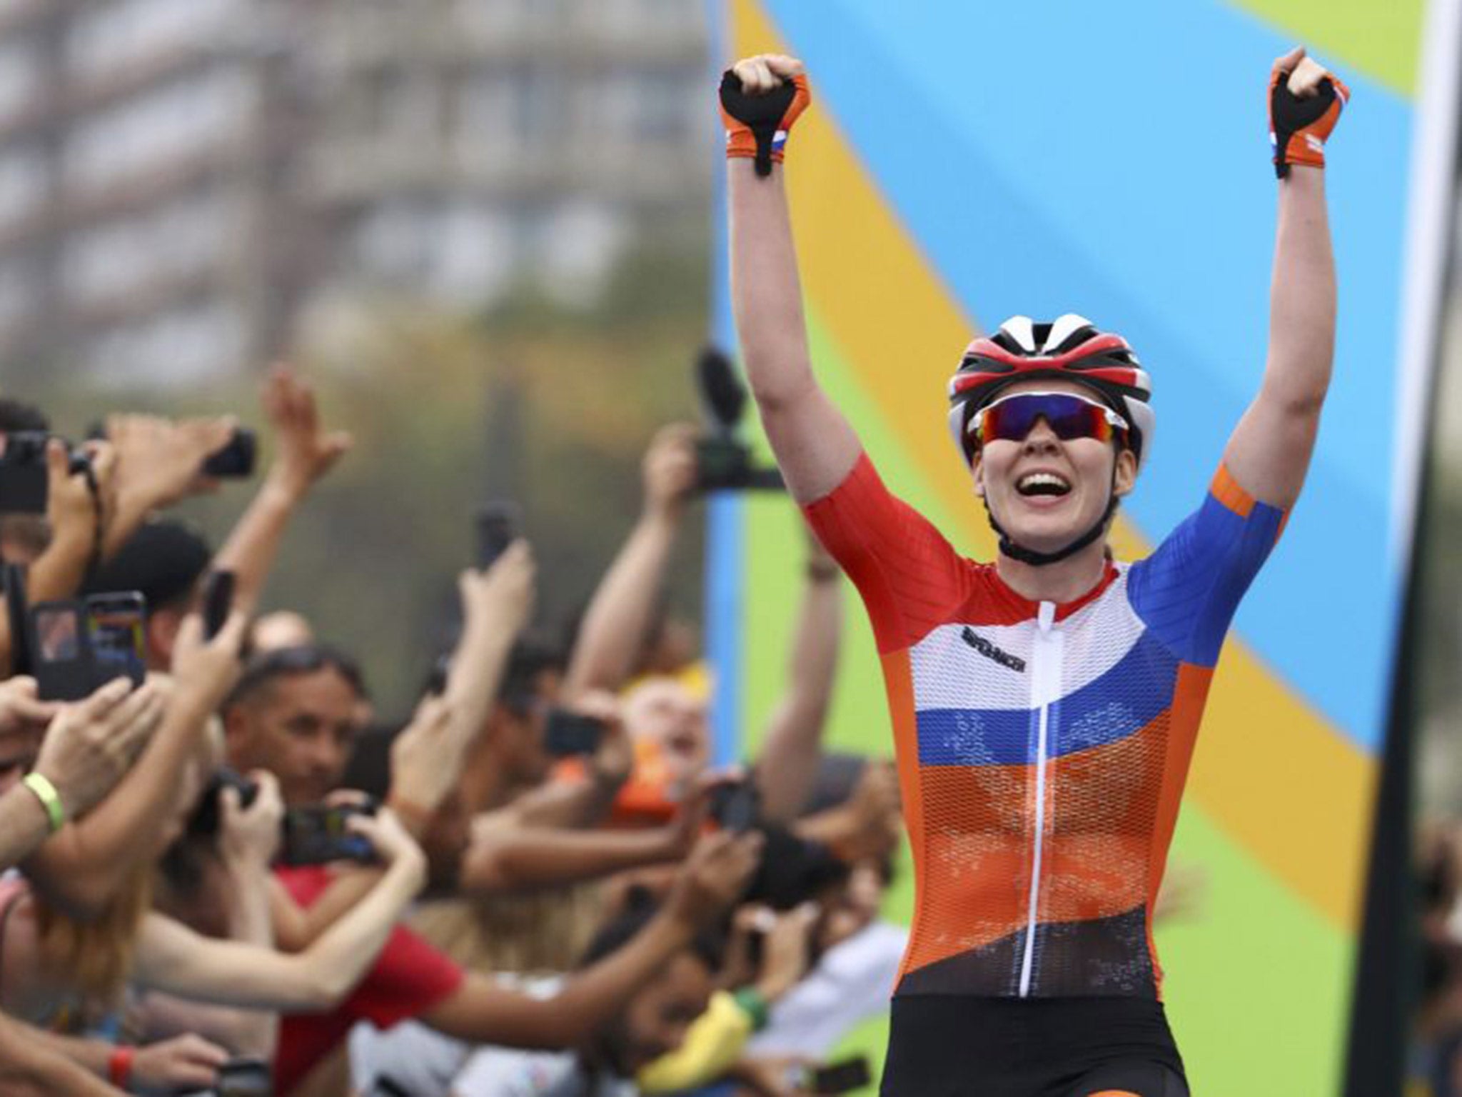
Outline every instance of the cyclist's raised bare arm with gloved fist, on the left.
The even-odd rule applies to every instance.
[[[756,139],[746,124],[765,116],[765,104],[785,95],[801,72],[801,61],[779,54],[738,61],[722,85],[722,104],[730,126],[731,304],[741,358],[788,490],[808,503],[842,483],[861,445],[813,374],[781,152],[772,154],[770,174],[759,174]],[[800,104],[794,99],[770,118],[773,129],[785,132],[806,105],[806,82],[800,86]]]

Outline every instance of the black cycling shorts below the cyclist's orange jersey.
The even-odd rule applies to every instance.
[[[882,1097],[1189,1097],[1161,1002],[893,999]]]

